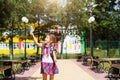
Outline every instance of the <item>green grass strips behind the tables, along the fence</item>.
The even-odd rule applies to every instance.
[[[86,49],[86,52],[88,55],[90,55],[90,48]],[[31,55],[36,55],[34,54],[27,54],[26,56],[29,58]],[[76,59],[77,58],[77,54],[68,54],[68,53],[64,53],[62,54],[64,59]],[[99,56],[100,58],[108,58],[108,57],[113,57],[113,58],[120,58],[120,54],[118,53],[117,49],[110,49],[109,50],[109,54],[107,54],[106,50],[96,50],[94,49],[94,56]],[[14,59],[18,60],[24,57],[24,54],[14,54]],[[57,58],[60,59],[60,53],[57,54]],[[6,54],[6,55],[0,55],[0,59],[10,59],[10,55]]]

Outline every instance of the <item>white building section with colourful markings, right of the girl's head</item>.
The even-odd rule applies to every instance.
[[[58,52],[61,51],[61,42],[59,43]],[[79,35],[67,35],[64,39],[63,43],[63,53],[68,54],[77,54],[77,53],[84,53],[85,49],[83,44],[81,44],[81,38]]]

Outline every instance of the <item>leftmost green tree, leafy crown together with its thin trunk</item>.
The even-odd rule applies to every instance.
[[[10,56],[13,59],[13,33],[15,33],[15,24],[21,22],[22,16],[30,16],[30,2],[28,0],[1,0],[0,4],[0,27],[7,28],[5,31],[10,32],[8,35],[10,38]]]

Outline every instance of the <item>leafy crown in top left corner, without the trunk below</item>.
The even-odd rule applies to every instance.
[[[28,0],[1,0],[0,3],[0,27],[21,22],[22,16],[30,17],[31,8]]]

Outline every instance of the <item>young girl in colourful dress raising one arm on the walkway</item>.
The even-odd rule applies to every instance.
[[[40,44],[37,42],[32,31],[30,31],[30,35],[33,37],[34,43],[42,48],[41,73],[43,80],[47,80],[47,75],[50,75],[50,80],[54,80],[54,74],[58,73],[56,49],[54,48],[55,36],[53,34],[47,34],[45,44]]]

